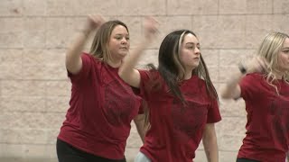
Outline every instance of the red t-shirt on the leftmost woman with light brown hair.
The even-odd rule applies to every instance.
[[[58,138],[90,154],[121,159],[141,98],[117,75],[118,68],[86,53],[81,59],[80,72],[69,74],[70,109]]]

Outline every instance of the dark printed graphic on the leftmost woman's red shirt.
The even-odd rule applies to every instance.
[[[127,85],[120,85],[117,80],[111,81],[105,87],[104,110],[107,121],[120,126],[124,121],[130,121],[130,114],[135,108],[134,98],[127,92],[132,91]]]

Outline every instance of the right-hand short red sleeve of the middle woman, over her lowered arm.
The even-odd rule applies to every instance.
[[[219,103],[217,100],[213,100],[210,103],[210,107],[208,110],[208,118],[207,123],[214,123],[221,120],[220,113],[219,113]]]

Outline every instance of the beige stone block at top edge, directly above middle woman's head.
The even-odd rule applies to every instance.
[[[218,14],[218,1],[215,0],[168,0],[167,13],[170,15]]]

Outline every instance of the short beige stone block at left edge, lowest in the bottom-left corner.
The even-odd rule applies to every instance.
[[[0,157],[23,157],[24,156],[24,146],[20,144],[0,143],[0,150],[1,150]]]

